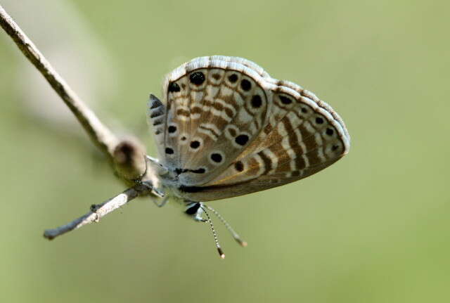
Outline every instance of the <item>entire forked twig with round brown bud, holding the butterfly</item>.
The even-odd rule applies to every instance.
[[[34,46],[33,42],[20,30],[20,27],[13,21],[11,16],[0,6],[0,26],[13,39],[15,44],[30,62],[41,72],[47,82],[68,105],[77,120],[87,132],[91,141],[101,149],[110,160],[115,172],[128,186],[126,191],[120,195],[103,202],[100,205],[93,205],[91,212],[85,214],[74,221],[54,229],[47,229],[44,237],[49,240],[63,235],[86,224],[96,222],[106,214],[125,205],[138,195],[148,195],[152,192],[152,186],[158,181],[155,172],[149,168],[148,158],[146,158],[143,145],[136,139],[119,140],[103,123],[98,120],[94,112],[75,94],[58,72],[53,69],[49,61]],[[144,186],[143,182],[148,184]],[[137,184],[137,185],[136,185]]]

